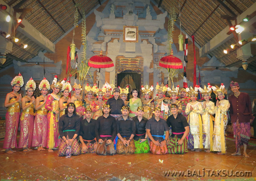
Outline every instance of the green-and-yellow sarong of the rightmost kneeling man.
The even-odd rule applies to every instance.
[[[187,139],[185,139],[181,146],[177,144],[177,142],[180,139],[178,139],[178,136],[175,135],[175,137],[171,137],[167,142],[167,149],[169,153],[172,154],[184,154],[187,153]]]

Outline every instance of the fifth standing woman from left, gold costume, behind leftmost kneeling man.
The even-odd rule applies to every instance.
[[[66,106],[68,105],[68,103],[70,103],[69,93],[71,92],[72,87],[69,81],[63,82],[61,90],[62,90],[63,96],[59,99],[59,110],[60,110],[59,118],[65,115]]]

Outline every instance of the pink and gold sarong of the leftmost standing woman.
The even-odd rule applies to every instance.
[[[19,112],[6,112],[6,131],[5,131],[5,141],[3,148],[17,148],[17,132],[18,132],[18,122],[19,122]]]

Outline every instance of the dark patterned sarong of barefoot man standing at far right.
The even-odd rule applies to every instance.
[[[237,153],[239,151],[239,148],[243,146],[243,144],[248,145],[251,136],[250,131],[250,123],[239,123],[238,118],[237,122],[233,123],[234,142],[236,143]]]

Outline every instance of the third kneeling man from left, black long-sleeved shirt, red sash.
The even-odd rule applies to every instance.
[[[116,119],[110,116],[110,105],[104,104],[103,116],[96,122],[95,134],[98,141],[96,153],[99,155],[114,155],[114,139],[116,138]]]

